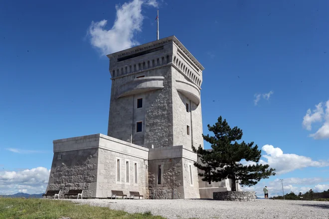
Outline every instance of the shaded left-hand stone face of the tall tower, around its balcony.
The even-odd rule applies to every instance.
[[[137,73],[125,74],[123,77],[114,77],[111,87],[111,101],[108,123],[108,136],[127,142],[151,148],[172,146],[172,99],[171,99],[171,72],[170,65],[161,57],[172,56],[172,43],[164,45],[164,49],[147,55],[138,56],[122,62],[110,60],[111,69],[121,69],[122,65],[134,65],[160,57],[160,66],[155,63],[155,68],[142,66]],[[158,67],[159,66],[159,67]],[[124,67],[125,69],[125,67]],[[117,97],[119,87],[134,80],[137,76],[162,76],[164,77],[163,89],[145,91],[138,95]],[[135,97],[136,96],[136,97]],[[143,109],[136,109],[136,98],[143,97]],[[134,100],[135,99],[135,100]],[[136,121],[143,121],[143,131],[136,133]]]

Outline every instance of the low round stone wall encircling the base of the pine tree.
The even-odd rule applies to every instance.
[[[214,192],[214,200],[221,201],[236,201],[236,202],[253,202],[256,199],[255,192]]]

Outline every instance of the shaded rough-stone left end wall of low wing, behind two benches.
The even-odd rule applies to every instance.
[[[47,190],[84,189],[83,198],[95,198],[97,162],[97,148],[54,153]]]

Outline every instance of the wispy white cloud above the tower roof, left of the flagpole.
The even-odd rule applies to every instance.
[[[91,45],[98,48],[102,55],[139,45],[134,36],[142,31],[144,4],[159,5],[157,0],[132,0],[122,6],[116,5],[117,16],[111,29],[106,28],[107,20],[92,21],[88,29]]]

